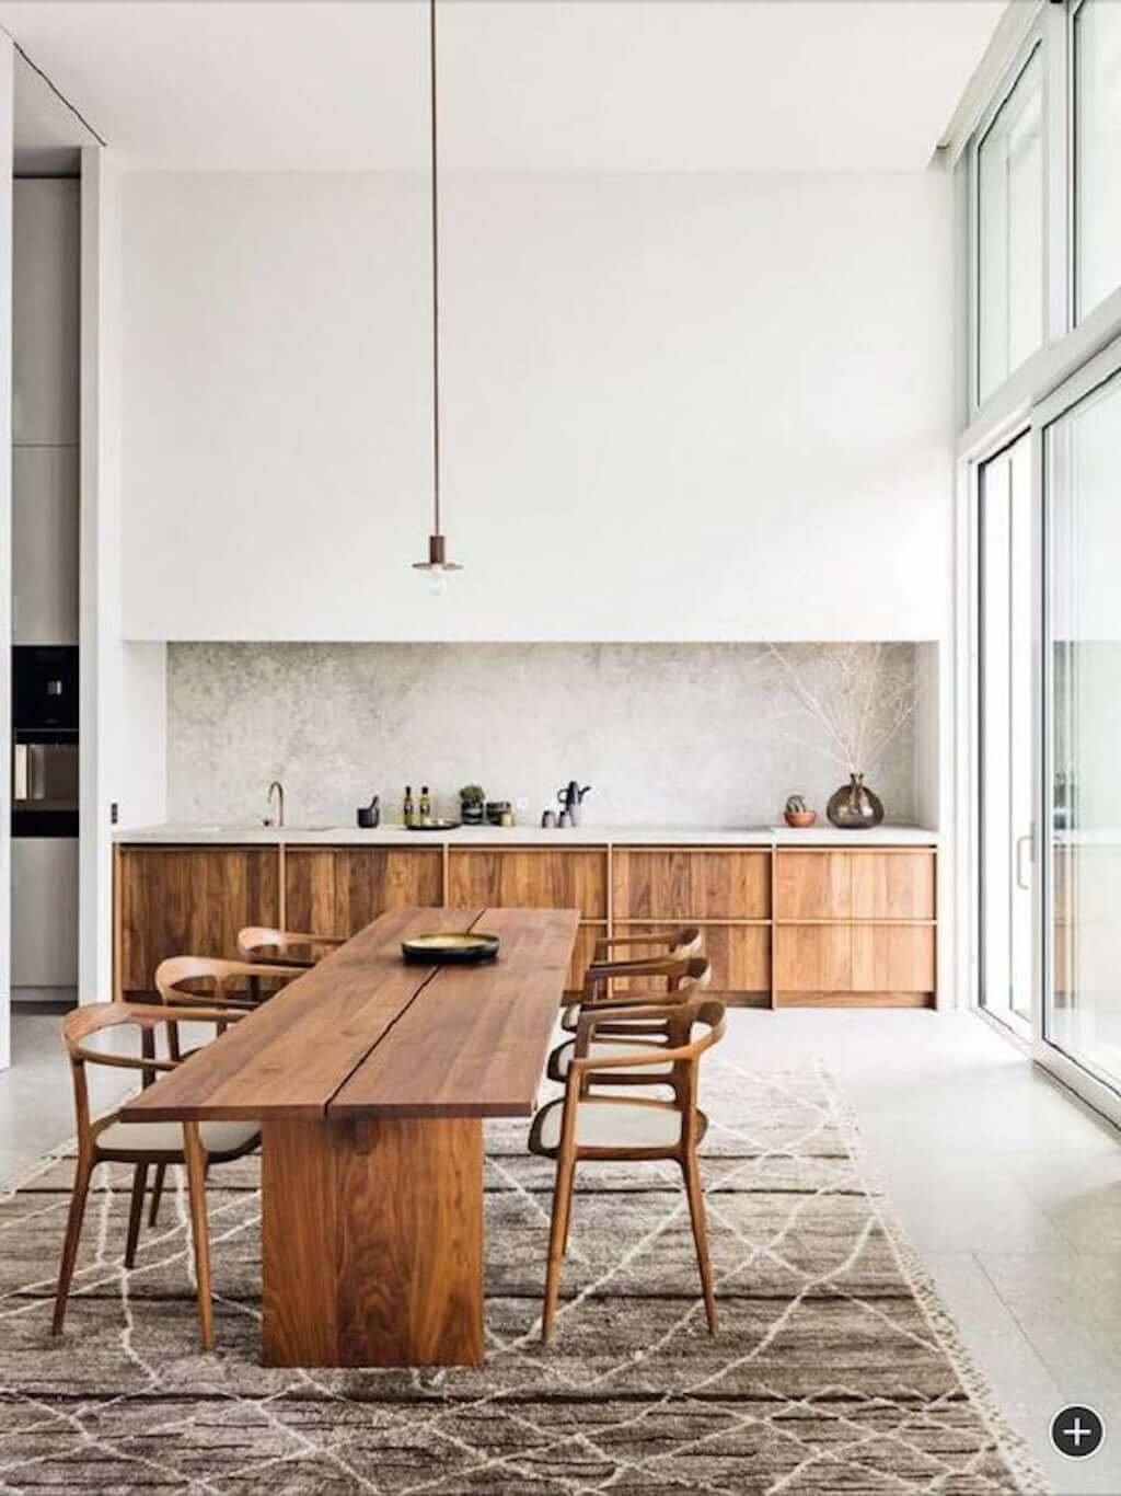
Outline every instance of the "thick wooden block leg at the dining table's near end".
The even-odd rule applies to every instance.
[[[480,1366],[481,1121],[266,1121],[262,1267],[266,1366]]]

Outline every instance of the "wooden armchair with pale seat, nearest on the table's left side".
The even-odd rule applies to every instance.
[[[157,1055],[157,1034],[163,1029],[170,1041],[176,1022],[212,1023],[238,1022],[241,1013],[230,1008],[172,1008],[139,1002],[93,1002],[73,1008],[63,1020],[63,1038],[70,1058],[75,1113],[78,1119],[78,1162],[75,1165],[70,1213],[66,1222],[63,1261],[55,1291],[52,1334],[60,1334],[66,1318],[78,1243],[85,1219],[90,1176],[99,1164],[132,1164],[133,1189],[129,1207],[129,1234],[124,1266],[136,1261],[140,1215],[148,1170],[154,1165],[160,1182],[169,1164],[187,1168],[187,1191],[194,1243],[194,1276],[199,1297],[199,1324],[205,1351],[214,1348],[214,1306],[211,1302],[211,1242],[206,1224],[206,1171],[211,1164],[241,1158],[257,1146],[257,1122],[121,1122],[120,1109],[100,1118],[90,1115],[87,1065],[112,1065],[135,1070],[148,1086],[157,1074],[175,1070],[178,1061]],[[123,1053],[121,1031],[132,1029],[139,1040],[133,1053]]]

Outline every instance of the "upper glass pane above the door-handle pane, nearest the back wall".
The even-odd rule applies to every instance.
[[[981,398],[1042,341],[1043,63],[1036,48],[978,148]]]

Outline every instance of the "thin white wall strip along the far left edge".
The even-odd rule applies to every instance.
[[[0,33],[0,597],[12,597],[12,39]],[[0,607],[0,744],[12,741],[12,615]],[[7,751],[7,749],[4,749]],[[12,1062],[12,787],[0,773],[0,1070]]]

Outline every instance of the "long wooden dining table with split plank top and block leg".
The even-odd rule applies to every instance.
[[[578,920],[392,910],[123,1110],[260,1121],[266,1366],[483,1363],[483,1118],[535,1109]],[[407,963],[432,931],[498,959]]]

